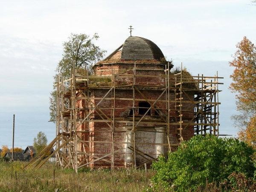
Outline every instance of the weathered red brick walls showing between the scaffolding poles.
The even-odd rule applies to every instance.
[[[113,73],[127,73],[127,74],[132,74],[132,68],[134,64],[113,64],[111,65],[99,65],[96,67],[96,75],[99,76],[104,76],[104,75],[111,75],[112,74],[112,69]],[[136,74],[142,74],[142,75],[154,75],[154,76],[159,76],[165,74],[163,71],[163,66],[161,65],[156,65],[156,64],[140,64],[137,65],[138,70],[136,70]],[[142,70],[144,69],[144,70]],[[154,70],[153,70],[154,69]],[[143,84],[143,85],[158,85],[158,86],[165,86],[165,79],[161,77],[157,78],[152,78],[152,77],[136,77],[136,84]],[[126,78],[116,78],[116,84],[119,83],[126,83],[126,84],[132,84],[132,77],[126,77]],[[94,89],[93,90],[93,102],[95,104],[98,104],[100,99],[95,99],[95,98],[102,98],[105,96],[105,94],[108,92],[109,89]],[[143,95],[146,97],[146,99],[153,99],[156,100],[160,94],[163,92],[163,90],[140,90]],[[194,100],[194,94],[189,93],[189,98]],[[113,90],[106,96],[106,98],[111,98],[113,97]],[[115,90],[115,97],[116,98],[133,98],[133,90],[132,89],[116,89]],[[183,101],[189,101],[189,98],[186,96],[183,96]],[[143,96],[138,93],[137,91],[135,92],[135,99],[144,99]],[[160,100],[166,100],[166,94],[164,93]],[[170,91],[170,101],[175,101],[175,93],[174,91]],[[153,103],[153,102],[151,102]],[[77,107],[82,108],[84,105],[86,105],[85,102],[82,102],[81,100],[78,101]],[[115,118],[116,120],[120,120],[120,118],[124,119],[126,118],[132,108],[133,102],[132,100],[115,100]],[[139,101],[135,101],[135,107],[138,107]],[[164,110],[166,109],[166,102],[160,102],[158,101],[156,103],[157,107],[161,108],[161,115],[166,116],[167,111]],[[178,105],[178,104],[177,104]],[[99,105],[99,108],[113,108],[113,100],[103,100]],[[122,108],[122,109],[118,109]],[[125,109],[126,108],[126,109]],[[128,108],[128,109],[127,109]],[[130,109],[129,109],[130,108]],[[172,111],[175,109],[175,103],[170,102],[170,116],[173,121],[175,121],[175,111]],[[189,103],[183,103],[182,110],[186,111],[193,111],[194,106]],[[99,112],[99,110],[96,110]],[[105,113],[108,117],[111,118],[111,109],[102,109],[102,112]],[[99,112],[100,113],[100,112]],[[151,110],[151,113],[154,113],[154,110]],[[103,114],[101,114],[104,116]],[[141,117],[138,116],[138,110],[135,111],[136,117]],[[183,122],[189,122],[190,119],[193,117],[193,112],[184,112],[183,113]],[[83,119],[85,117],[85,114],[83,112],[79,113],[79,117]],[[132,117],[132,116],[131,116]],[[105,117],[104,117],[105,118]],[[153,118],[153,117],[151,117]],[[156,117],[157,118],[157,117]],[[160,117],[158,117],[160,118]],[[101,117],[99,114],[94,112],[91,116],[90,119],[94,120],[101,120]],[[106,119],[106,118],[105,118]],[[132,120],[132,118],[131,118]],[[171,121],[172,122],[172,121]],[[111,122],[108,122],[109,125],[112,126]],[[88,145],[90,146],[89,148],[85,148],[87,152],[89,152],[91,155],[94,155],[96,157],[102,157],[105,154],[111,153],[111,127],[109,127],[106,122],[90,122],[90,123],[84,123],[79,130],[88,130],[91,131],[92,133],[83,133],[81,134],[81,137],[84,140],[89,141]],[[126,128],[124,128],[126,124],[125,123],[115,123],[115,131],[125,131]],[[140,151],[143,151],[153,157],[155,157],[155,137],[156,133],[154,132],[154,127],[155,126],[160,126],[157,124],[148,124],[146,122],[140,123],[139,126],[149,126],[151,128],[146,128],[146,131],[136,131],[135,132],[135,145],[136,148],[139,149]],[[165,125],[163,125],[165,126]],[[89,127],[89,128],[88,128]],[[176,128],[179,128],[179,125],[172,125],[170,126],[170,134],[169,134],[169,141],[171,144],[177,143],[177,131]],[[152,132],[150,132],[152,131]],[[194,129],[192,126],[188,126],[185,130],[183,130],[183,139],[184,140],[189,140],[193,135],[194,135]],[[93,142],[90,142],[93,141]],[[141,143],[141,144],[139,144]],[[148,144],[142,144],[142,143],[148,143]],[[167,143],[167,142],[166,142]],[[119,151],[118,153],[114,154],[114,162],[115,166],[124,166],[125,163],[125,132],[115,132],[114,133],[114,150],[117,150],[121,148],[122,150]],[[166,146],[167,148],[167,146]],[[84,150],[84,148],[80,145],[81,151]],[[175,149],[173,147],[172,149]],[[109,155],[108,157],[104,158],[107,161],[111,161],[111,156]],[[92,160],[92,158],[90,158]],[[137,166],[144,163],[145,159],[141,157],[140,155],[136,155],[136,164]],[[93,163],[91,166],[111,166],[110,163],[105,162],[104,160],[99,160]]]

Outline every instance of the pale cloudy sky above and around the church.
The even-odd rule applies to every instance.
[[[182,2],[182,3],[181,3]],[[132,35],[148,38],[193,75],[223,76],[220,133],[236,135],[228,61],[247,36],[256,42],[256,6],[250,0],[12,0],[0,1],[0,145],[32,145],[38,131],[55,137],[49,120],[52,76],[70,33],[100,36],[108,55]]]

